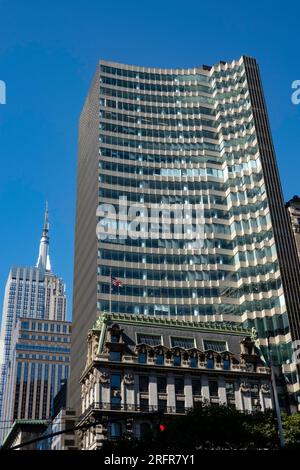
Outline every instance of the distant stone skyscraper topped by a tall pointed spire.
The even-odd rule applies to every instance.
[[[5,287],[1,325],[0,412],[3,419],[8,397],[8,370],[12,354],[12,336],[19,318],[65,321],[67,300],[65,285],[52,271],[49,258],[48,209],[36,267],[13,267]]]

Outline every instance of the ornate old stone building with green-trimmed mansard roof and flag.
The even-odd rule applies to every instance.
[[[272,408],[270,370],[242,327],[106,314],[88,334],[79,448],[125,433],[142,437],[198,402]],[[99,424],[95,424],[98,422]]]

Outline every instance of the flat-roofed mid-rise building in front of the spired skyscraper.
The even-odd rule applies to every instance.
[[[71,322],[19,318],[12,334],[2,413],[5,437],[16,420],[45,420],[69,377]]]

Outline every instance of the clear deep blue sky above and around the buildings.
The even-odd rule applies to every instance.
[[[99,58],[179,68],[256,57],[284,195],[299,194],[299,18],[299,1],[0,0],[0,303],[10,266],[36,262],[48,199],[71,306],[78,118]]]

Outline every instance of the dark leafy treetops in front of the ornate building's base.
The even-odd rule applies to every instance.
[[[300,414],[283,415],[287,448],[300,449]],[[164,417],[166,430],[159,431],[159,419],[141,440],[123,438],[104,444],[106,451],[131,449],[143,452],[180,453],[208,449],[279,449],[274,411],[243,413],[226,405],[199,403],[193,410],[173,419]]]

